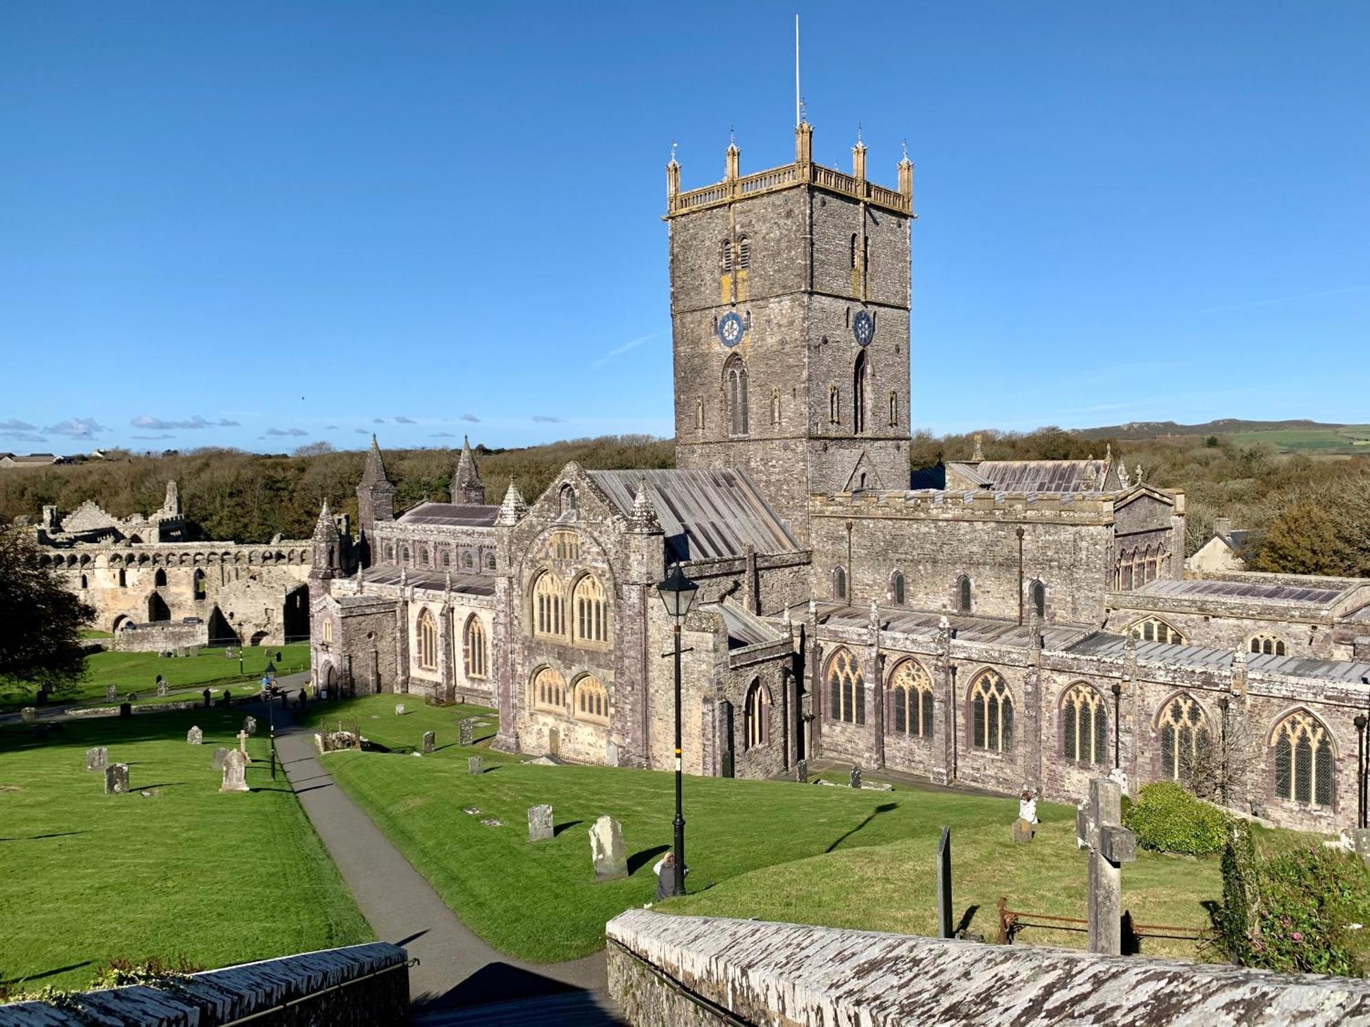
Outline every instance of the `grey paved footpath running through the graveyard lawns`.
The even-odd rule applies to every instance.
[[[423,1013],[416,1023],[618,1023],[607,998],[603,952],[552,964],[521,963],[496,952],[456,919],[333,782],[316,757],[312,734],[288,727],[277,735],[277,752],[377,938],[419,960],[410,969],[410,994]],[[489,1009],[470,1009],[475,1005]],[[455,1012],[459,1008],[462,1013]]]

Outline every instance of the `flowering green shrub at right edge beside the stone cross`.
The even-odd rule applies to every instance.
[[[1262,857],[1245,824],[1222,854],[1215,922],[1223,954],[1299,974],[1370,974],[1370,868],[1354,853],[1303,846]]]

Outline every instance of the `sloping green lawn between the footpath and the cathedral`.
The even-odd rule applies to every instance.
[[[438,759],[403,755],[425,730],[451,741],[453,707],[418,707],[395,696],[337,704],[323,719],[355,716],[369,738],[397,753],[330,753],[334,779],[377,822],[453,912],[490,945],[551,961],[603,943],[604,922],[649,902],[651,867],[671,841],[670,774],[606,767],[540,767],[484,750],[499,765],[467,774],[467,750]],[[388,713],[385,711],[389,711]],[[374,715],[375,719],[371,719]],[[527,808],[551,802],[556,838],[529,845]],[[480,816],[463,812],[473,807]],[[610,813],[623,826],[633,871],[593,883],[588,830]],[[1014,845],[1017,800],[899,789],[892,793],[788,782],[688,778],[686,853],[692,896],[667,911],[760,916],[803,923],[927,933],[933,927],[933,849],[952,827],[956,915],[993,937],[995,901],[1041,913],[1084,916],[1085,856],[1074,808],[1044,804],[1032,845]],[[481,819],[495,816],[503,827]],[[777,865],[781,864],[781,865]],[[1217,859],[1143,853],[1125,874],[1125,901],[1143,923],[1203,927],[1201,901],[1221,890]],[[969,906],[978,906],[969,911]],[[1022,941],[1078,943],[1080,935],[1029,931]],[[1148,952],[1167,949],[1151,948]],[[1192,945],[1169,949],[1193,956]]]

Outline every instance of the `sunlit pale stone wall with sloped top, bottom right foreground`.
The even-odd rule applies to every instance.
[[[608,987],[630,1024],[1343,1024],[1370,980],[630,909]]]

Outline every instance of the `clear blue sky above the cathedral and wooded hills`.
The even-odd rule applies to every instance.
[[[915,426],[1370,420],[1370,5],[797,10]],[[663,166],[792,159],[795,11],[7,3],[0,449],[669,434]]]

